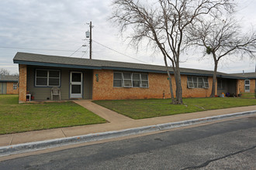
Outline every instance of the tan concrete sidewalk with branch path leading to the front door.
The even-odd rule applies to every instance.
[[[212,117],[223,114],[233,114],[237,112],[256,110],[256,106],[235,107],[229,109],[207,110],[189,114],[176,114],[165,117],[152,117],[142,120],[133,120],[121,114],[117,114],[112,110],[106,109],[105,107],[94,104],[89,100],[74,100],[74,102],[80,104],[88,110],[91,110],[95,114],[98,114],[100,117],[105,118],[107,121],[109,121],[109,123],[0,135],[0,146],[17,145],[27,142],[44,141],[55,138],[67,138],[83,134],[95,134],[105,131],[118,131],[127,128],[138,128],[154,124],[187,121],[202,117]]]

